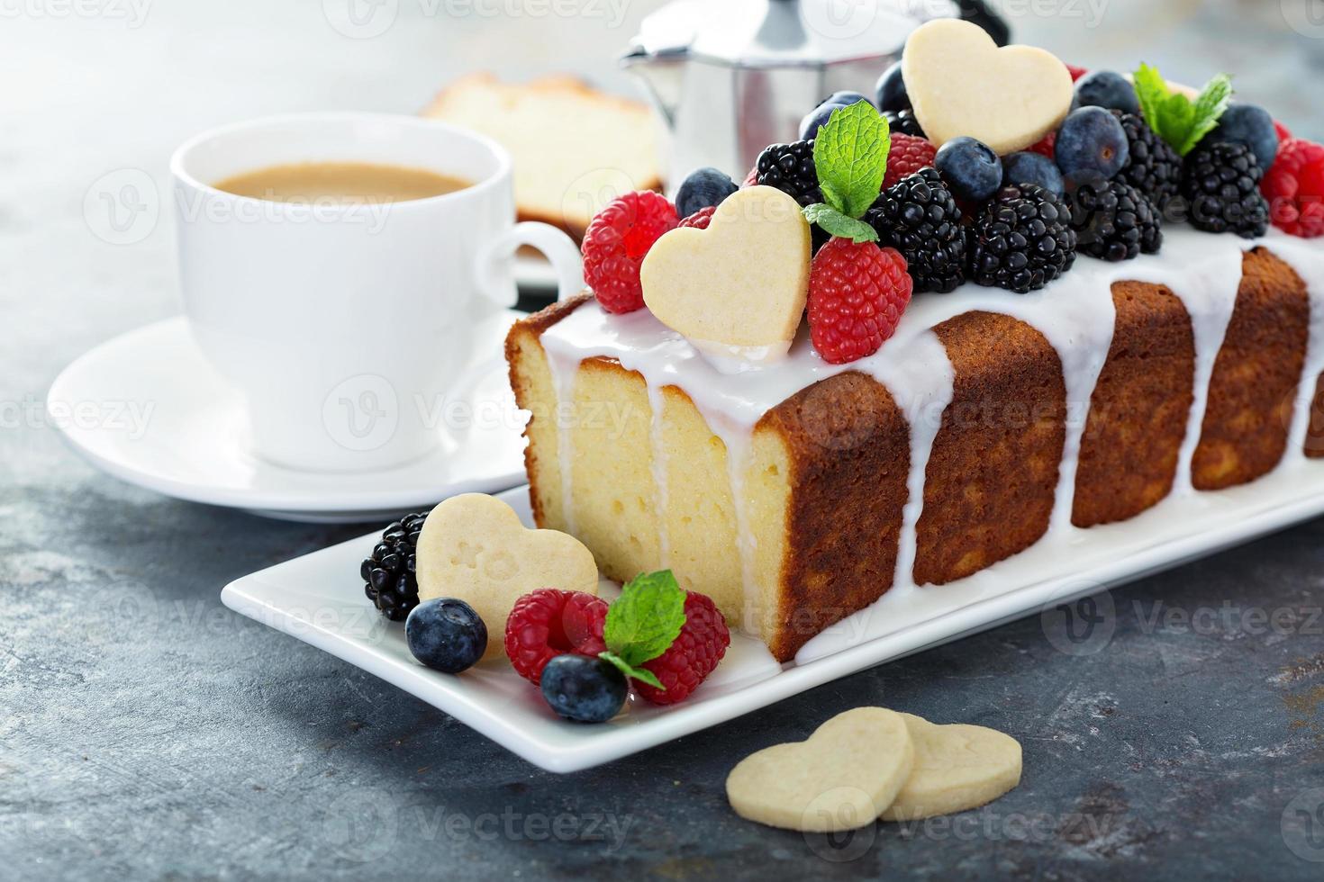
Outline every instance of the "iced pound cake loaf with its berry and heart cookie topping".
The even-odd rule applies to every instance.
[[[1139,94],[1156,115],[1152,69],[1090,74],[1071,110],[1061,62],[1064,102],[1022,85],[1055,102],[1029,135],[961,118],[943,131],[972,135],[943,145],[888,138],[896,102],[931,87],[935,26],[977,40],[924,25],[876,110],[828,99],[806,118],[826,124],[771,145],[744,186],[696,172],[681,196],[715,196],[679,198],[683,220],[655,193],[617,200],[588,227],[589,290],[506,342],[538,525],[613,579],[670,567],[781,661],[898,586],[941,591],[1041,542],[1070,554],[1170,496],[1324,456],[1324,247],[1307,241],[1324,229],[1304,192],[1274,190],[1282,167],[1260,168],[1223,81],[1196,102],[1214,119],[1193,147],[1082,100]],[[924,128],[941,112],[904,110]],[[1324,148],[1274,139],[1324,172]],[[806,278],[768,278],[760,247],[794,250],[794,225]]]

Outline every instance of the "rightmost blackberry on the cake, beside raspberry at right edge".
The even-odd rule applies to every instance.
[[[1235,233],[1253,239],[1268,230],[1268,202],[1259,193],[1263,172],[1246,144],[1197,145],[1186,155],[1181,194],[1190,225],[1206,233]]]

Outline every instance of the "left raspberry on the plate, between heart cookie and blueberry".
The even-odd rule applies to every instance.
[[[583,591],[539,588],[515,602],[506,619],[506,655],[519,676],[535,686],[556,656],[597,656],[606,649],[602,627],[606,600]]]

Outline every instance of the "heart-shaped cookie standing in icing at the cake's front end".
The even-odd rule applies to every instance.
[[[708,229],[677,227],[639,267],[643,303],[700,350],[771,360],[785,354],[809,290],[809,222],[773,186],[747,186]]]

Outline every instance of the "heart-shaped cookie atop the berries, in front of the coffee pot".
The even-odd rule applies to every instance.
[[[939,19],[916,28],[902,54],[915,116],[936,147],[968,135],[1014,153],[1071,110],[1071,74],[1035,46],[998,48],[976,24]]]

